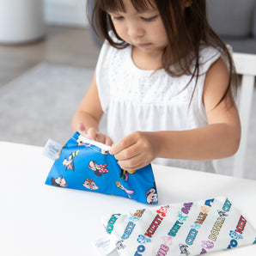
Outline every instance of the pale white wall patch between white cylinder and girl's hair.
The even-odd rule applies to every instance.
[[[8,0],[7,0],[8,1]],[[47,24],[88,27],[87,0],[44,0]]]

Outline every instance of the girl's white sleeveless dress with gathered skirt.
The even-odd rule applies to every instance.
[[[207,125],[202,101],[205,72],[220,56],[212,47],[200,51],[201,75],[192,97],[195,79],[185,88],[191,76],[140,70],[132,61],[131,46],[119,50],[106,41],[96,66],[96,83],[113,143],[133,131],[183,131]],[[211,161],[157,158],[154,163],[214,172]]]

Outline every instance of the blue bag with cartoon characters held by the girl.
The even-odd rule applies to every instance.
[[[109,154],[109,149],[109,146],[76,132],[60,150],[46,184],[131,198],[143,204],[157,204],[151,165],[132,172],[125,171]]]

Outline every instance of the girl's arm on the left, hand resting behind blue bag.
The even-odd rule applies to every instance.
[[[99,122],[102,114],[94,72],[94,78],[88,88],[88,92],[83,97],[72,119],[72,131],[79,131],[82,135],[92,140],[112,145],[111,138],[99,131]]]

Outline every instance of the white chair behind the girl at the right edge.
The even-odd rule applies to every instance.
[[[241,144],[238,152],[235,154],[233,175],[236,177],[243,177],[245,172],[247,138],[256,76],[256,54],[235,52],[233,53],[233,58],[236,71],[241,75],[240,102],[238,104],[241,118]]]

